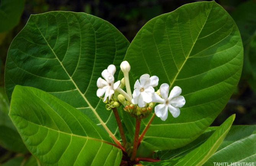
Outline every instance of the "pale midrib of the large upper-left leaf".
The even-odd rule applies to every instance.
[[[33,20],[34,21],[34,20]],[[80,91],[80,89],[78,88],[77,84],[75,83],[75,81],[73,80],[73,78],[68,74],[67,70],[65,69],[65,67],[63,66],[62,62],[59,60],[59,58],[57,57],[57,55],[55,54],[54,50],[52,50],[51,46],[49,45],[49,43],[47,42],[46,38],[44,37],[44,35],[42,34],[42,32],[40,31],[38,25],[36,24],[36,21],[34,21],[34,24],[36,25],[36,27],[38,28],[38,31],[40,32],[41,36],[44,38],[44,40],[46,41],[47,46],[49,46],[49,48],[51,49],[52,53],[55,55],[56,59],[58,60],[58,62],[60,63],[60,65],[62,66],[62,68],[64,69],[65,73],[67,73],[68,77],[70,78],[70,80],[72,81],[73,85],[77,88],[77,91],[80,93],[80,95],[83,97],[83,99],[86,101],[86,103],[88,104],[88,106],[90,107],[90,109],[93,111],[93,113],[95,114],[95,116],[97,117],[97,119],[99,120],[100,124],[104,127],[104,129],[106,130],[106,132],[108,132],[108,134],[111,136],[111,138],[113,138],[116,141],[118,141],[116,139],[116,137],[113,135],[113,133],[109,130],[109,128],[106,126],[106,124],[104,124],[103,120],[99,117],[98,113],[96,112],[96,110],[91,106],[90,102],[86,99],[86,97],[83,95],[83,93]],[[118,141],[119,142],[119,141]]]

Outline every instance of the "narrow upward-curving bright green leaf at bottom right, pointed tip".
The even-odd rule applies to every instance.
[[[159,161],[152,166],[201,166],[204,164],[218,149],[226,137],[231,125],[235,119],[235,114],[230,116],[225,122],[218,127],[215,132],[201,146],[189,152],[187,155],[170,160]],[[208,164],[209,165],[209,164]],[[210,164],[211,165],[211,164]]]

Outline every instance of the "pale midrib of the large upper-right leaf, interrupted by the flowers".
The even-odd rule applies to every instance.
[[[214,4],[212,4],[212,7],[213,7],[213,5],[214,5]],[[212,7],[210,8],[209,14],[207,15],[207,18],[205,19],[205,22],[204,22],[204,25],[202,26],[202,29],[204,29],[205,23],[206,23],[207,20],[208,20],[208,17],[209,17],[209,15],[210,15],[210,12],[211,12],[211,10],[212,10]],[[196,40],[195,40],[195,42],[193,43],[193,45],[192,45],[192,47],[191,47],[191,49],[190,49],[190,51],[189,51],[188,56],[186,57],[186,59],[184,60],[183,64],[182,64],[181,67],[179,68],[179,70],[178,70],[177,74],[175,75],[175,77],[173,78],[173,81],[172,81],[171,85],[169,86],[169,89],[171,89],[171,87],[173,86],[174,82],[176,81],[176,78],[177,78],[178,75],[179,75],[179,72],[182,70],[182,68],[183,68],[183,66],[185,65],[186,61],[189,59],[189,55],[191,54],[191,51],[192,51],[192,49],[194,48],[195,43],[197,42],[197,39],[198,39],[199,35],[200,35],[201,32],[202,32],[202,29],[201,29],[200,32],[198,33],[198,35],[197,35],[197,37],[196,37]],[[155,117],[155,112],[154,112],[154,114],[152,115],[152,117],[150,118],[149,121],[152,121],[152,119],[154,119],[154,117]],[[149,125],[150,125],[150,124],[149,124]],[[148,126],[148,124],[146,125],[146,127],[144,128],[144,130],[147,129],[147,126]],[[144,132],[144,130],[143,130],[143,132]],[[142,132],[142,133],[143,133],[143,132]]]

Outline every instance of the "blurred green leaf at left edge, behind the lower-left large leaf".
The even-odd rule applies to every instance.
[[[8,116],[9,109],[10,106],[5,90],[0,87],[0,146],[10,151],[27,153],[26,146]]]

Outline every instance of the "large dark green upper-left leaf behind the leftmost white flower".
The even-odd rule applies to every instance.
[[[84,112],[119,139],[113,113],[96,96],[96,81],[109,64],[119,71],[128,46],[112,24],[86,13],[31,15],[8,51],[8,98],[15,85],[39,88]]]

